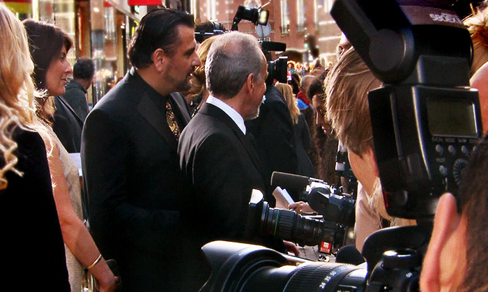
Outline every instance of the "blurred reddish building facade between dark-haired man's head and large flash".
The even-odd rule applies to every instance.
[[[286,43],[287,55],[293,61],[312,63],[319,59],[327,66],[337,59],[341,34],[329,13],[332,4],[333,0],[191,0],[190,7],[195,9],[192,13],[197,22],[219,22],[231,29],[238,6],[263,6],[270,12],[266,40]],[[245,20],[238,26],[239,31],[264,38],[259,29],[260,26]],[[310,45],[317,47],[315,54],[310,52]]]

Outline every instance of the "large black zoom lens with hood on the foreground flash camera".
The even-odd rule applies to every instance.
[[[202,250],[212,275],[201,292],[360,292],[365,286],[367,270],[358,266],[306,261],[266,247],[227,241],[207,243]]]

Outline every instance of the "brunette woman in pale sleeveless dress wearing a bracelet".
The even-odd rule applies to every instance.
[[[78,169],[66,148],[51,128],[54,95],[65,91],[66,76],[71,66],[66,59],[73,44],[66,33],[52,24],[35,20],[24,21],[29,36],[29,49],[35,64],[34,79],[38,89],[47,91],[49,98],[39,99],[36,114],[50,139],[45,139],[54,201],[59,214],[66,245],[66,263],[71,289],[81,291],[82,272],[86,268],[96,278],[98,291],[114,291],[118,278],[107,266],[82,219],[81,188]]]

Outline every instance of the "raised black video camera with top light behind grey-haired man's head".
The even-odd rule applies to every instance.
[[[262,7],[263,6],[259,8],[251,8],[240,5],[237,8],[236,15],[234,16],[231,31],[238,31],[238,23],[241,22],[241,20],[249,20],[254,25],[268,24],[269,11],[263,9]],[[268,81],[273,81],[273,79],[276,79],[278,82],[281,83],[287,83],[288,57],[280,56],[280,58],[272,61],[270,54],[270,52],[286,51],[287,44],[264,40],[260,40],[259,43],[261,43],[261,49],[266,56],[266,60],[268,63],[268,79],[266,79],[266,83],[268,84]]]

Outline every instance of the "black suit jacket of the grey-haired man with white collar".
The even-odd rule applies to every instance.
[[[252,242],[282,249],[280,240],[247,237],[251,192],[265,189],[261,163],[251,140],[222,109],[208,103],[202,105],[183,130],[178,155],[194,191],[188,197],[188,215],[184,217],[193,237],[192,246],[186,250],[195,254],[188,262],[196,267],[192,272],[196,278],[209,275],[197,250],[213,240]],[[201,285],[206,278],[202,276],[199,280],[203,281]]]

